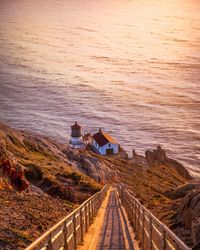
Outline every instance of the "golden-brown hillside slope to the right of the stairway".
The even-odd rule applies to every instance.
[[[167,158],[149,165],[146,157],[134,155],[131,159],[105,158],[104,164],[115,170],[117,182],[188,246],[200,240],[200,181],[193,180],[180,163]]]

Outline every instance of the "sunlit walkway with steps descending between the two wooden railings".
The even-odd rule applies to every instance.
[[[138,250],[132,227],[115,189],[108,191],[79,250]]]

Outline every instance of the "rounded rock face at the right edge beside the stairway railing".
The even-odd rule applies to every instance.
[[[199,185],[189,193],[183,206],[183,221],[191,230],[193,244],[200,241],[200,187]]]

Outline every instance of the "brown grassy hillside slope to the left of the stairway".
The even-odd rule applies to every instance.
[[[0,146],[29,183],[23,192],[0,184],[0,249],[24,248],[102,187],[67,159],[66,145],[1,124]]]

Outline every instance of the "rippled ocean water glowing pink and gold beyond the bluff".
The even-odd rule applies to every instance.
[[[200,174],[200,1],[0,0],[0,120],[102,127]]]

